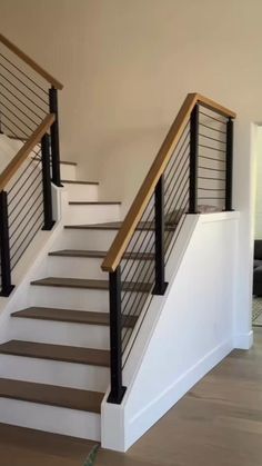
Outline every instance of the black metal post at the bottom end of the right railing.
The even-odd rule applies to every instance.
[[[109,274],[110,297],[110,363],[111,391],[108,403],[120,405],[127,387],[122,385],[122,315],[121,315],[121,269]]]

